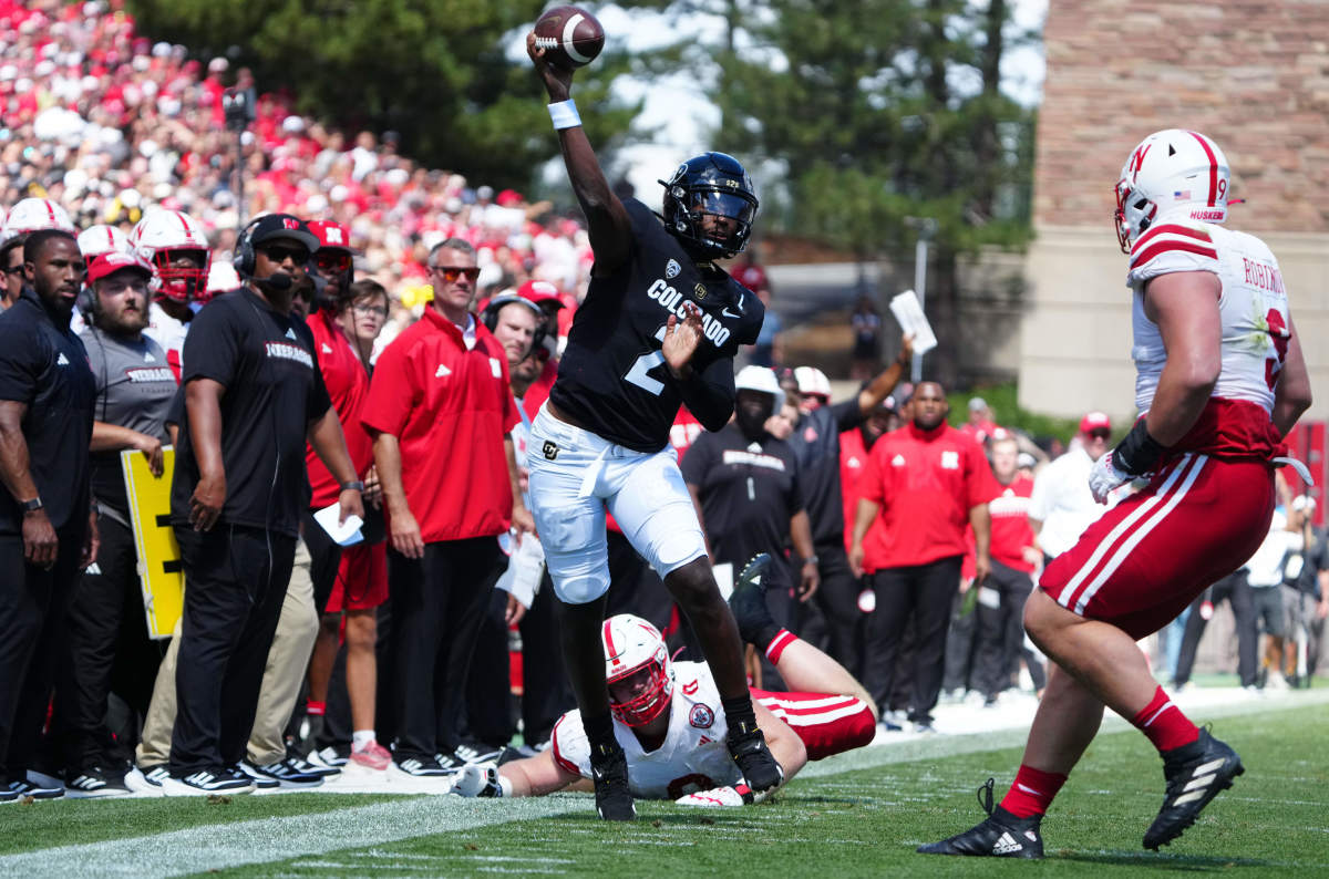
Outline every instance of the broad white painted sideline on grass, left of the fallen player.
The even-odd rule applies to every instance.
[[[585,797],[575,801],[569,797],[508,801],[420,797],[308,815],[210,823],[150,837],[39,848],[0,856],[0,875],[52,879],[179,876],[589,809],[591,805]]]

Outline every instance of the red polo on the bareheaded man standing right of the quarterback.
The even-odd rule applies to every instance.
[[[877,440],[860,485],[881,505],[868,535],[880,539],[864,540],[868,572],[964,555],[969,510],[998,494],[982,450],[946,424],[908,424]]]

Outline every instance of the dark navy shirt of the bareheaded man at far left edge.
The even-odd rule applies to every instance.
[[[0,400],[27,404],[28,473],[51,526],[85,527],[88,447],[97,397],[82,343],[58,327],[31,288],[0,315]],[[23,532],[23,510],[0,489],[0,534]],[[0,576],[12,576],[0,571]]]

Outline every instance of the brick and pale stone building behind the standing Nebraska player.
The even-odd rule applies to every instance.
[[[1132,414],[1115,185],[1151,131],[1204,131],[1232,165],[1228,224],[1282,268],[1329,414],[1329,3],[1051,0],[1026,263],[1021,405]]]

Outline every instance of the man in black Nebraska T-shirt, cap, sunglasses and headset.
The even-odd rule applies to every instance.
[[[186,588],[167,794],[253,789],[234,766],[254,725],[308,507],[306,440],[342,482],[343,520],[364,515],[314,336],[291,316],[315,247],[288,214],[250,223],[235,243],[245,285],[203,308],[185,340],[171,523]]]

